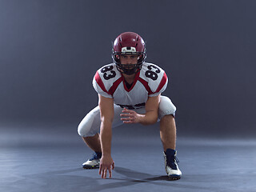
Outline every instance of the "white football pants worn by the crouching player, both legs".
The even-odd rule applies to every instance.
[[[121,121],[120,114],[122,113],[122,107],[114,104],[114,120],[112,122],[112,127],[121,126],[123,122]],[[140,108],[134,110],[138,114],[145,114],[145,108]],[[166,96],[160,96],[160,103],[158,109],[158,121],[165,115],[172,114],[175,116],[176,107],[170,101],[170,98]],[[99,133],[101,126],[101,117],[99,107],[96,106],[91,110],[86,117],[82,119],[78,126],[78,134],[81,137],[91,137]]]

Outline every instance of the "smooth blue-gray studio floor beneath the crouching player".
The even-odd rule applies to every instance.
[[[0,191],[255,191],[255,140],[178,137],[183,175],[170,181],[158,131],[145,129],[114,130],[111,179],[81,168],[92,152],[74,130],[2,129]]]

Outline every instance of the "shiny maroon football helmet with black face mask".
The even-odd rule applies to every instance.
[[[117,55],[134,54],[138,55],[138,63],[135,65],[122,65]],[[120,34],[113,44],[112,58],[118,70],[123,74],[135,74],[142,68],[142,63],[146,59],[146,45],[142,37],[134,32]]]

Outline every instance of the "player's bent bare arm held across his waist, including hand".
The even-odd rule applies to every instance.
[[[124,123],[141,123],[142,125],[154,124],[158,121],[158,106],[160,94],[155,97],[149,97],[146,102],[146,114],[138,114],[134,110],[122,110],[121,120]]]

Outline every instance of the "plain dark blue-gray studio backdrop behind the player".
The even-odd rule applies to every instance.
[[[250,0],[0,0],[1,129],[75,131],[98,104],[91,80],[111,42],[134,31],[170,78],[179,134],[254,137],[255,10]]]

